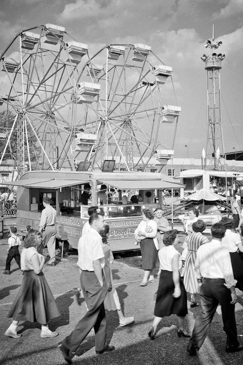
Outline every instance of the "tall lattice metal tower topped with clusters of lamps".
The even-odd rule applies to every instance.
[[[214,28],[212,40],[207,40],[206,48],[212,52],[211,55],[203,55],[207,71],[207,106],[208,106],[208,128],[205,167],[212,166],[215,170],[219,167],[220,155],[225,154],[224,137],[221,122],[221,94],[220,94],[220,70],[225,55],[217,54],[216,50],[222,45],[221,41],[214,40]],[[207,161],[208,160],[208,161]],[[221,168],[223,164],[220,163]]]

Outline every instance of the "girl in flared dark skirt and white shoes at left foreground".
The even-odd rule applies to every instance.
[[[48,322],[52,318],[58,317],[60,312],[42,273],[45,258],[36,250],[36,246],[41,244],[41,239],[41,233],[35,229],[31,229],[25,237],[24,249],[20,258],[24,276],[17,297],[7,315],[13,318],[12,324],[5,332],[8,337],[21,337],[16,331],[19,321],[39,322],[41,338],[58,335],[57,332],[52,332],[48,328]]]

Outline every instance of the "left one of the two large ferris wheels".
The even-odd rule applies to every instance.
[[[46,24],[20,32],[0,56],[0,105],[7,115],[5,154],[28,169],[72,168],[77,65],[87,45]],[[16,143],[16,148],[14,146]]]

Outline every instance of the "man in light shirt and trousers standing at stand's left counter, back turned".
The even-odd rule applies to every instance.
[[[42,255],[47,246],[50,255],[48,265],[55,266],[55,245],[56,245],[56,211],[50,205],[50,198],[43,198],[44,209],[41,212],[39,231],[42,233],[42,243],[37,251]]]

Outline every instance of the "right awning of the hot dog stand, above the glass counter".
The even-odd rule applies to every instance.
[[[164,180],[104,180],[101,183],[105,185],[114,186],[120,190],[131,189],[131,190],[146,190],[149,188],[153,189],[180,189],[184,188],[185,185],[171,183]]]

